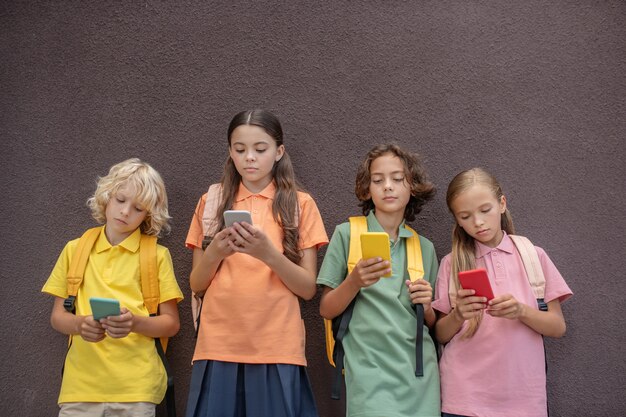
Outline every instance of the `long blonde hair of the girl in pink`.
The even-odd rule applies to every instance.
[[[498,180],[496,180],[493,175],[482,168],[468,169],[467,171],[457,174],[457,176],[454,177],[448,185],[446,204],[448,205],[450,213],[454,215],[452,212],[452,203],[459,196],[459,194],[478,184],[486,186],[498,201],[502,199],[504,195],[502,193],[502,187],[500,187]],[[513,219],[511,218],[511,213],[509,213],[508,208],[500,216],[500,227],[508,234],[515,234]],[[461,226],[459,226],[455,218],[454,228],[452,229],[452,271],[450,279],[456,281],[456,288],[461,288],[459,284],[459,272],[476,268],[475,251],[474,239],[465,230],[463,230]],[[462,337],[470,338],[474,336],[480,326],[481,320],[482,314],[471,319],[468,328]]]

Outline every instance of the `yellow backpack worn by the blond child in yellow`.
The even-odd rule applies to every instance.
[[[76,308],[74,303],[76,301],[76,295],[80,288],[83,277],[85,275],[85,269],[87,268],[87,261],[91,249],[95,244],[100,233],[104,232],[104,226],[94,227],[87,230],[81,238],[78,240],[76,251],[70,262],[70,267],[67,272],[67,294],[68,297],[63,302],[63,307],[70,313],[75,313]],[[156,316],[159,310],[159,272],[157,266],[157,237],[141,234],[139,241],[139,267],[141,276],[141,292],[143,294],[143,303],[148,310],[150,316]],[[70,344],[71,344],[70,336]],[[167,374],[167,391],[165,393],[165,399],[167,402],[167,413],[170,417],[176,417],[176,405],[174,402],[174,376],[170,372],[167,358],[165,357],[165,350],[167,349],[167,337],[154,338],[154,344],[156,346],[157,353],[163,362],[165,372]]]

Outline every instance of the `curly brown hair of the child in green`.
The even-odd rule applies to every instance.
[[[374,201],[369,192],[371,182],[370,167],[376,158],[386,154],[398,157],[404,164],[405,177],[411,188],[411,198],[404,209],[404,219],[412,222],[422,211],[424,204],[431,200],[436,192],[435,185],[428,180],[426,170],[417,153],[406,151],[395,143],[375,146],[367,153],[357,170],[354,193],[360,201],[359,206],[363,210],[364,215],[375,209]]]

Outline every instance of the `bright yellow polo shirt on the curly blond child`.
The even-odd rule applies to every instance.
[[[136,316],[148,316],[143,305],[136,230],[119,245],[111,246],[104,233],[94,244],[76,297],[76,314],[91,315],[90,297],[115,298]],[[67,271],[78,239],[70,241],[59,256],[42,292],[67,297]],[[161,302],[183,294],[174,276],[169,250],[157,246]],[[65,359],[59,403],[162,401],[167,388],[165,369],[154,339],[130,333],[122,339],[105,337],[90,343],[73,336]]]

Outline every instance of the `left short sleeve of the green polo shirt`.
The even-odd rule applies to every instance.
[[[317,276],[317,283],[330,288],[337,288],[348,274],[348,245],[350,242],[350,224],[343,223],[335,228],[322,267]]]

